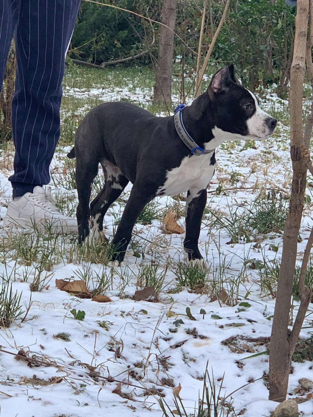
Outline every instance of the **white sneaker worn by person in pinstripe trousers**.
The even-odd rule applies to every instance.
[[[55,206],[51,188],[44,190],[36,186],[33,193],[25,193],[17,201],[10,201],[3,226],[38,230],[45,233],[48,229],[53,233],[78,234],[77,221],[64,216]]]

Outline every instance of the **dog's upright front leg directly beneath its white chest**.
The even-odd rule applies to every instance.
[[[188,261],[202,259],[198,249],[201,219],[206,204],[206,190],[189,190],[186,200],[186,234],[184,249],[188,255]]]

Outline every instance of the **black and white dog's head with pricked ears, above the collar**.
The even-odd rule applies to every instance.
[[[277,120],[261,110],[255,95],[238,83],[233,65],[213,75],[207,94],[215,137],[261,139],[273,133]]]

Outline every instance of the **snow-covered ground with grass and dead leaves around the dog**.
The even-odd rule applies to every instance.
[[[97,95],[100,100],[128,96],[141,103],[150,100],[148,91],[134,95],[126,88],[65,90],[65,96],[85,94]],[[286,106],[284,100],[269,92],[262,101],[263,108],[275,111]],[[81,111],[85,113],[86,108]],[[218,168],[208,188],[208,211],[200,234],[200,251],[209,265],[201,291],[178,288],[175,272],[178,262],[183,261],[184,235],[163,233],[162,217],[170,209],[182,211],[184,201],[155,199],[160,218],[152,224],[136,224],[133,244],[121,266],[105,266],[84,258],[70,237],[41,236],[36,241],[36,235],[25,235],[22,242],[17,235],[8,236],[0,229],[2,285],[12,281],[13,293],[22,294],[24,311],[9,328],[0,329],[0,417],[96,417],[106,413],[112,417],[161,417],[160,395],[175,410],[173,387],[179,386],[180,398],[190,414],[197,407],[199,392],[202,394],[207,362],[216,388],[223,382],[220,396],[231,403],[229,415],[269,416],[277,403],[268,401],[263,378],[268,373],[268,355],[250,356],[268,348],[266,338],[271,332],[275,299],[258,265],[271,265],[280,258],[282,229],[242,233],[235,243],[230,224],[236,224],[236,216],[253,210],[258,197],[262,201],[267,195],[271,197],[270,190],[275,191],[277,203],[285,202],[292,175],[288,146],[289,128],[278,123],[276,133],[264,142],[225,143],[218,149]],[[77,193],[68,189],[70,172],[65,156],[69,149],[59,147],[55,153],[50,186],[58,201],[66,201],[65,212],[73,214]],[[7,178],[13,151],[1,151],[0,159],[6,161],[0,173],[3,219],[11,192]],[[310,190],[308,186],[299,262],[313,225]],[[129,191],[130,186],[105,216],[109,239]],[[218,226],[217,217],[226,219],[228,229]],[[183,217],[178,223],[184,227]],[[44,256],[51,262],[45,264],[48,270],[42,271]],[[159,280],[164,279],[162,289],[157,300],[135,301],[135,291],[144,287],[138,276],[143,276],[145,265],[156,266]],[[30,283],[39,270],[43,289],[31,292]],[[99,276],[106,281],[104,294],[110,298],[105,303],[78,298],[55,286],[55,279],[85,279],[91,291],[98,286]],[[275,282],[275,291],[274,286]],[[216,294],[219,297],[214,297]],[[293,318],[297,306],[294,300]],[[72,309],[85,311],[85,318],[75,319]],[[310,304],[302,339],[312,337],[312,312]],[[288,397],[305,398],[309,393],[298,389],[302,377],[313,379],[311,361],[292,363]],[[299,410],[303,416],[313,415],[312,399],[300,403]]]

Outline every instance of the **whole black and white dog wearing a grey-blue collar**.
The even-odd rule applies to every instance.
[[[113,260],[123,261],[136,219],[155,196],[187,191],[184,249],[201,259],[200,224],[207,187],[215,170],[215,148],[223,141],[260,139],[276,119],[262,111],[253,93],[238,83],[234,67],[222,68],[208,89],[176,116],[156,117],[130,103],[103,103],[78,127],[76,156],[78,234],[99,238],[103,217],[129,181],[133,183],[113,238]],[[91,184],[101,164],[105,185],[90,203]]]

